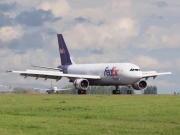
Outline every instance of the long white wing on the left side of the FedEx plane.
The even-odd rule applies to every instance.
[[[100,76],[96,75],[80,75],[80,74],[64,74],[63,72],[57,72],[57,71],[42,71],[42,70],[26,70],[26,71],[6,71],[6,72],[12,72],[12,73],[18,73],[21,76],[24,76],[25,78],[30,77],[36,77],[38,78],[45,78],[46,79],[56,79],[56,81],[60,80],[62,77],[67,78],[85,78],[85,79],[101,79]]]

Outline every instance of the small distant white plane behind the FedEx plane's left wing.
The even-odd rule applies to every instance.
[[[46,91],[46,93],[48,93],[48,94],[61,93],[63,90],[71,90],[70,88],[58,89],[57,87],[53,87],[52,82],[51,82],[51,86],[50,86],[49,89],[40,89],[40,88],[34,88],[34,89],[38,89],[38,90],[41,90],[41,91]]]

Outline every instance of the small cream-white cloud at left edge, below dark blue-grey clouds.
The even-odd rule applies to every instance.
[[[6,26],[0,28],[0,40],[3,42],[8,42],[13,39],[20,38],[23,35],[23,30],[20,26]]]

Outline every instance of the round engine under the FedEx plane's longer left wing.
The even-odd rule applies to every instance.
[[[89,87],[89,81],[87,79],[76,79],[74,81],[74,86],[78,90],[87,90]]]

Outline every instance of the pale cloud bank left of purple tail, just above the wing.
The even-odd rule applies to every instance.
[[[15,54],[10,49],[0,49],[0,58],[3,59],[0,70],[32,68],[31,64],[56,67],[57,60],[45,50],[36,50],[24,54]],[[48,58],[48,59],[47,59]]]

